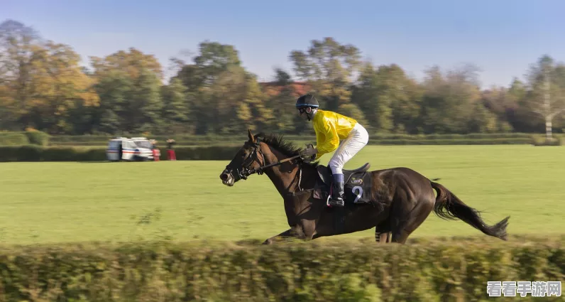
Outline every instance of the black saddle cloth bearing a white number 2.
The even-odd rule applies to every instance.
[[[345,204],[364,204],[371,203],[371,168],[370,163],[354,170],[343,169],[344,172],[344,202]],[[314,198],[329,200],[332,190],[332,173],[331,168],[319,165],[318,180],[314,188]]]

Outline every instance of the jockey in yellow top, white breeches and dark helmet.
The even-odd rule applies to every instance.
[[[344,173],[342,169],[358,151],[368,143],[366,129],[355,119],[336,112],[318,109],[319,104],[313,95],[302,95],[296,101],[296,109],[303,119],[312,121],[316,132],[316,148],[310,144],[301,153],[305,157],[319,159],[325,153],[336,151],[328,166],[334,178],[334,190],[328,202],[331,206],[344,206]],[[344,140],[340,146],[339,141]]]

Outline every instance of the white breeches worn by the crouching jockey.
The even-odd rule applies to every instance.
[[[349,161],[358,151],[363,149],[369,141],[367,130],[360,124],[355,124],[346,139],[341,141],[337,147],[334,156],[331,156],[328,166],[331,173],[343,174],[342,169],[347,161]]]

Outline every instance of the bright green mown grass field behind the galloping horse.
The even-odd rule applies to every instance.
[[[533,146],[368,146],[346,168],[365,162],[372,169],[414,168],[486,211],[487,222],[510,215],[509,234],[547,236],[565,233],[564,153]],[[286,230],[282,199],[268,177],[228,188],[219,180],[226,163],[0,163],[0,242],[265,239]],[[432,214],[412,238],[456,235],[484,236]],[[373,230],[340,237],[372,238]]]

